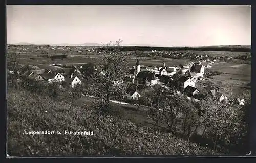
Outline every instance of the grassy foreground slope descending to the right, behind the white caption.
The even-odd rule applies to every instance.
[[[26,135],[27,131],[61,131],[62,135]],[[65,130],[94,135],[64,135]],[[26,90],[8,89],[8,154],[11,156],[211,155],[208,148],[170,134],[98,115]]]

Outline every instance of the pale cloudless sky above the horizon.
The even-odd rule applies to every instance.
[[[7,43],[251,45],[249,5],[7,5]]]

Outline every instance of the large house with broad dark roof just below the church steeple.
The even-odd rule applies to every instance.
[[[139,72],[134,78],[134,83],[137,84],[154,85],[157,84],[157,82],[158,78],[150,71]]]

